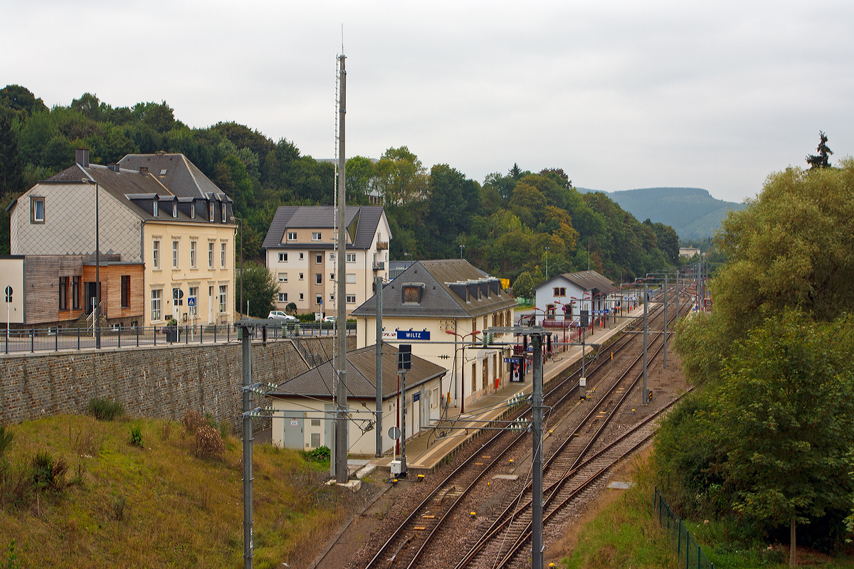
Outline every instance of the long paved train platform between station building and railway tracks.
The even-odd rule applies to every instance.
[[[652,305],[650,308],[652,309]],[[616,323],[610,323],[610,328],[594,328],[593,334],[587,336],[585,353],[592,351],[591,345],[603,345],[615,335],[620,334],[623,328],[635,322],[635,319],[643,316],[643,305],[630,311],[626,316],[618,316]],[[609,318],[610,319],[610,318]],[[601,353],[601,352],[600,352]],[[554,357],[548,358],[543,363],[543,385],[548,388],[549,382],[562,379],[571,373],[581,363],[582,346],[570,345],[566,351],[556,351]],[[407,479],[414,479],[418,474],[432,472],[439,466],[447,456],[459,449],[469,439],[476,436],[483,427],[489,427],[492,421],[501,421],[510,411],[507,405],[508,399],[518,394],[529,395],[533,389],[533,374],[525,374],[524,382],[511,383],[507,380],[507,374],[502,380],[503,387],[490,392],[483,398],[478,399],[465,407],[465,412],[460,412],[459,407],[447,409],[447,419],[430,427],[424,427],[414,437],[407,439]],[[494,424],[498,427],[499,424]],[[384,426],[383,426],[384,427]],[[400,460],[400,456],[393,456],[391,452],[383,457],[373,458],[370,464],[381,473],[390,473],[392,460]]]

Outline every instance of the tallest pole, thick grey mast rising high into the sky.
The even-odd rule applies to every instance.
[[[336,400],[338,404],[338,417],[335,429],[335,479],[338,484],[344,484],[349,478],[347,469],[348,425],[347,425],[347,334],[342,334],[341,324],[347,329],[347,192],[345,182],[347,180],[347,154],[344,153],[344,117],[347,114],[347,72],[344,70],[346,56],[338,55],[340,95],[338,99],[338,288],[336,291],[336,324],[338,335],[336,338],[338,350],[336,353],[336,372],[338,384],[336,389]]]

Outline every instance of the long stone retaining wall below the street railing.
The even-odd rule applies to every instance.
[[[306,337],[330,355],[333,336]],[[355,337],[347,339],[355,348]],[[240,425],[242,363],[238,343],[9,354],[0,357],[0,424],[84,414],[92,398],[125,405],[127,415],[179,421],[189,409]],[[253,380],[279,384],[306,371],[292,340],[252,345]],[[255,404],[265,404],[256,396]],[[269,420],[255,420],[264,427]]]

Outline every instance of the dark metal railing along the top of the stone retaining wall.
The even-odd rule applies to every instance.
[[[227,344],[239,340],[243,328],[233,324],[196,326],[134,326],[108,328],[15,328],[0,330],[3,353],[21,351],[66,351],[88,348],[131,348],[143,345]],[[346,334],[355,334],[355,322],[348,322]],[[254,340],[279,340],[299,336],[335,334],[330,322],[270,322],[254,328]],[[100,337],[99,337],[100,336]]]

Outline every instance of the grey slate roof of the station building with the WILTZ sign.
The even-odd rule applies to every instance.
[[[459,284],[458,284],[459,283]],[[465,283],[465,284],[464,284]],[[403,303],[402,287],[424,285],[419,303]],[[492,292],[465,300],[465,287],[492,287]],[[483,289],[483,288],[482,288]],[[352,312],[354,316],[376,316],[377,297]],[[501,290],[500,280],[488,276],[465,259],[416,261],[394,281],[383,286],[383,316],[474,317],[516,305],[516,300]]]

